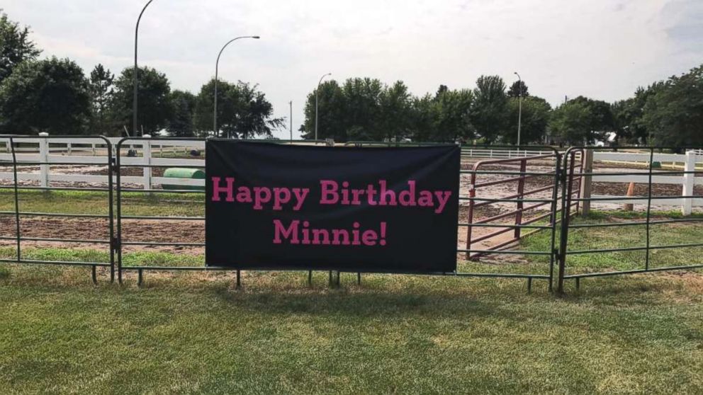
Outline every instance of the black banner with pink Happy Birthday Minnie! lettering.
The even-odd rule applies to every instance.
[[[458,146],[206,143],[206,263],[451,272]]]

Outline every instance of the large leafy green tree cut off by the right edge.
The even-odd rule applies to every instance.
[[[647,98],[643,124],[654,144],[703,145],[703,65],[672,76]]]

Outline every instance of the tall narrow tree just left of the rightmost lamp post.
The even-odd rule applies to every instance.
[[[495,142],[507,124],[505,83],[500,76],[480,76],[473,97],[471,123],[485,143]]]

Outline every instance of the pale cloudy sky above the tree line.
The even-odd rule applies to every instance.
[[[134,25],[146,0],[4,0],[30,25],[43,56],[69,57],[86,74],[133,62]],[[154,0],[140,26],[140,64],[171,88],[197,93],[215,74],[259,84],[293,128],[305,96],[327,72],[342,81],[401,79],[412,93],[471,88],[480,74],[553,105],[565,96],[606,101],[703,63],[702,0]],[[280,137],[287,131],[277,133]]]

